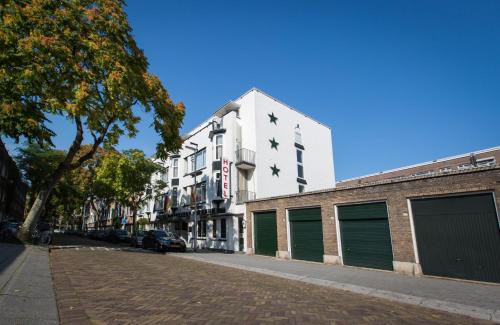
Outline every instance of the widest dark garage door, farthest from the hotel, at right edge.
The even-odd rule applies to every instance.
[[[491,194],[412,201],[424,274],[500,282],[500,229]]]

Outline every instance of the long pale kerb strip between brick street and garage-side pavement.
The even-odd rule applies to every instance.
[[[239,265],[239,264],[217,262],[217,261],[212,261],[212,260],[208,260],[205,258],[189,256],[189,255],[177,254],[175,256],[185,258],[185,259],[194,260],[194,261],[230,267],[230,268],[239,269],[239,270],[243,270],[243,271],[256,272],[256,273],[276,276],[276,277],[284,278],[284,279],[288,279],[288,280],[301,281],[304,283],[319,285],[319,286],[323,286],[323,287],[345,290],[345,291],[358,293],[358,294],[364,294],[364,295],[368,295],[368,296],[372,296],[372,297],[376,297],[376,298],[387,299],[387,300],[391,300],[391,301],[395,301],[395,302],[399,302],[399,303],[417,305],[417,306],[427,307],[427,308],[436,309],[436,310],[440,310],[440,311],[446,311],[446,312],[450,312],[450,313],[454,313],[454,314],[470,316],[473,318],[491,320],[494,322],[500,322],[500,310],[492,310],[492,309],[474,307],[474,306],[452,303],[449,301],[438,300],[438,299],[428,299],[428,298],[423,298],[423,297],[418,297],[418,296],[413,296],[413,295],[401,294],[401,293],[393,292],[393,291],[373,289],[373,288],[369,288],[369,287],[357,286],[357,285],[346,284],[346,283],[341,283],[341,282],[336,282],[336,281],[310,278],[307,276],[300,276],[300,275],[295,275],[295,274],[290,274],[290,273],[271,271],[271,270],[267,270],[267,269],[249,267],[249,266],[244,266],[244,265]]]

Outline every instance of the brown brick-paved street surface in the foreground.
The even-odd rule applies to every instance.
[[[170,255],[51,252],[62,324],[488,324]]]

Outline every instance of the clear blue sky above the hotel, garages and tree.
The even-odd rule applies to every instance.
[[[127,12],[187,107],[184,131],[255,86],[332,128],[337,179],[500,145],[500,1],[129,0]],[[152,154],[149,123],[121,148]],[[73,128],[55,124],[68,147]]]

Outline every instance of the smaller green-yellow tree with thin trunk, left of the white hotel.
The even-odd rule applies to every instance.
[[[116,201],[132,210],[134,232],[137,211],[153,198],[153,193],[166,186],[161,180],[152,182],[153,174],[162,170],[160,164],[147,158],[144,152],[137,149],[105,156],[97,170],[96,183],[112,191]]]

